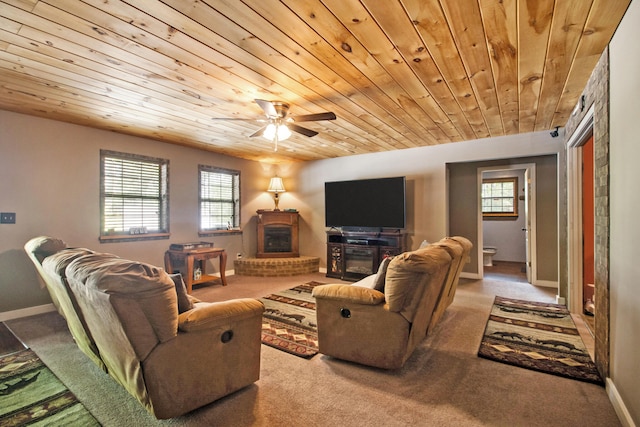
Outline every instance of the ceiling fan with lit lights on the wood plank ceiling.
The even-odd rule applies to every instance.
[[[249,135],[250,138],[263,136],[273,141],[274,151],[278,151],[278,141],[284,141],[291,136],[291,131],[305,136],[316,136],[318,132],[299,126],[294,122],[316,122],[319,120],[335,120],[336,115],[330,111],[316,114],[302,114],[299,116],[287,117],[289,112],[289,104],[281,101],[265,101],[264,99],[256,99],[256,104],[262,108],[267,119],[256,119],[257,122],[266,123],[256,132]],[[247,119],[225,119],[216,120],[245,120]]]

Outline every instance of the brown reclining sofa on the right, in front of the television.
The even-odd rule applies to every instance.
[[[359,282],[315,287],[319,352],[383,369],[404,366],[433,330],[434,314],[453,300],[470,245],[446,238],[383,260]]]

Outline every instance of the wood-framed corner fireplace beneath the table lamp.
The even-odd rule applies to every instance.
[[[256,258],[299,256],[298,212],[259,210]]]

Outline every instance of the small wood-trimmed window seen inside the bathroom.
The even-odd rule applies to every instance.
[[[483,217],[518,216],[518,177],[482,180]]]

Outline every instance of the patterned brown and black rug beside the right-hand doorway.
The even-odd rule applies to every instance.
[[[497,296],[478,356],[602,385],[566,307]]]

